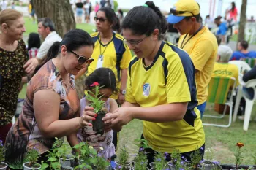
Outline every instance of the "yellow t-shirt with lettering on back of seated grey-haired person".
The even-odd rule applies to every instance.
[[[234,77],[236,79],[236,86],[238,86],[238,72],[238,67],[235,64],[216,62],[211,77]]]

